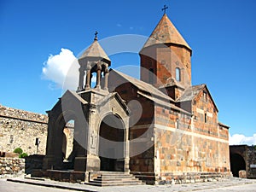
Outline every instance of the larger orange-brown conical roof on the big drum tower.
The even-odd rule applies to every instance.
[[[166,14],[163,15],[154,28],[154,31],[151,33],[143,48],[154,44],[180,44],[192,50]]]

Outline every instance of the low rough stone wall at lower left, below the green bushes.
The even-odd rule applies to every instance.
[[[25,159],[0,157],[0,176],[22,174],[25,170]]]

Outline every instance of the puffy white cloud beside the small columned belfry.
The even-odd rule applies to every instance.
[[[49,55],[44,62],[43,78],[54,83],[51,87],[76,90],[79,84],[79,61],[69,49],[61,49],[58,55]]]

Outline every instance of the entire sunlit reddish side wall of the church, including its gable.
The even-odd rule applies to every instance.
[[[192,103],[195,119],[174,110],[155,108],[155,156],[159,154],[160,158],[155,163],[160,165],[154,166],[160,167],[160,175],[230,172],[229,131],[219,127],[217,110],[211,97],[208,93],[204,96],[203,91]]]

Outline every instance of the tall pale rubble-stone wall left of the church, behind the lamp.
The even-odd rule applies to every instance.
[[[45,154],[48,117],[0,105],[0,151],[13,152],[22,148],[27,154]]]

